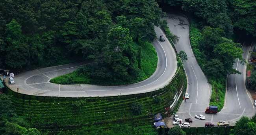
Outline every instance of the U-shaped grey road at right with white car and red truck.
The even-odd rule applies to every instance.
[[[237,70],[242,74],[228,76],[227,96],[223,110],[217,115],[204,113],[210,103],[211,86],[208,84],[191,50],[188,21],[184,16],[177,14],[168,14],[168,18],[165,19],[168,22],[170,31],[179,37],[179,41],[176,43],[177,51],[184,50],[188,57],[188,60],[184,63],[184,68],[187,74],[187,92],[190,94],[190,98],[187,99],[187,102],[183,101],[177,112],[180,119],[192,118],[193,123],[191,123],[191,126],[202,127],[205,122],[213,122],[217,125],[219,120],[224,120],[229,121],[230,125],[234,125],[243,115],[252,117],[255,114],[255,108],[252,106],[251,96],[245,88],[244,73],[246,66],[237,64],[237,62],[234,67],[237,67]],[[248,57],[249,48],[250,46],[243,46],[244,59]],[[239,101],[237,97],[239,97]],[[203,121],[195,119],[197,114],[203,114],[206,119]]]

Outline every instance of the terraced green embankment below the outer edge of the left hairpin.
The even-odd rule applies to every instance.
[[[163,113],[165,107],[173,103],[175,93],[183,86],[186,90],[186,76],[180,68],[173,81],[161,90],[145,94],[117,97],[37,97],[19,95],[12,91],[15,110],[18,115],[43,133],[57,134],[60,131],[77,133],[87,127],[106,129],[115,128],[117,124],[130,126],[152,125],[152,114]],[[133,103],[142,104],[142,113],[134,114]],[[69,132],[70,131],[70,132]]]

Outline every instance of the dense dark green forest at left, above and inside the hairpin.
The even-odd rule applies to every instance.
[[[154,0],[1,0],[0,67],[93,59],[83,75],[143,78],[141,47],[155,38],[161,14]]]

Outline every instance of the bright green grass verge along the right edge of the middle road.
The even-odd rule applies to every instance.
[[[189,26],[189,38],[193,53],[197,58],[197,62],[202,68],[202,71],[204,72],[204,66],[207,61],[198,46],[199,41],[202,38],[202,33],[197,27],[195,27],[193,22],[191,22]],[[214,76],[208,76],[208,81],[212,86],[210,105],[218,106],[218,110],[220,111],[224,105],[226,77],[216,79]]]

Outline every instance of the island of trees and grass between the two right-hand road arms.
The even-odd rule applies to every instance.
[[[235,59],[244,61],[241,45],[223,35],[224,32],[219,28],[204,27],[201,33],[193,22],[190,25],[191,47],[212,86],[210,105],[218,106],[219,110],[224,104],[226,74],[239,73],[233,68]]]

